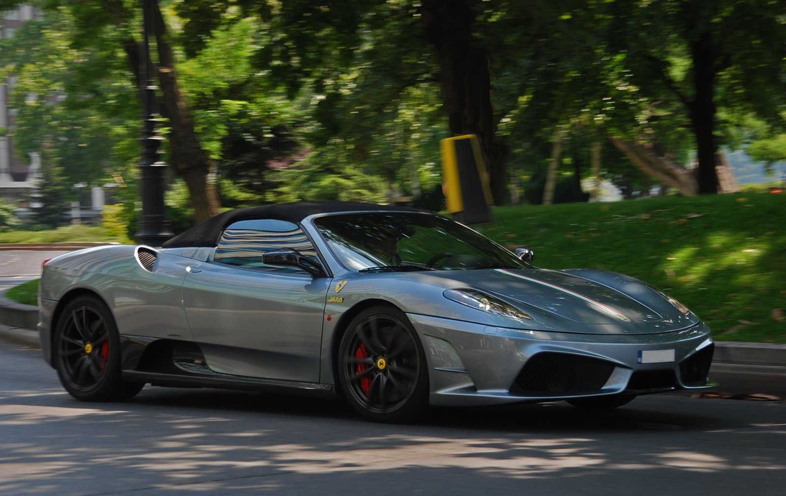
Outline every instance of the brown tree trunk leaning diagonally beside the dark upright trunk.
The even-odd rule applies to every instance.
[[[691,172],[669,158],[653,152],[653,145],[639,145],[620,138],[608,139],[646,175],[677,189],[682,196],[691,197],[696,194],[696,178]]]

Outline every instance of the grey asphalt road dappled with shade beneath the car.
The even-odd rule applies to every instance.
[[[145,388],[81,403],[0,344],[0,494],[784,494],[786,403],[654,395],[437,410],[372,424],[333,402]]]

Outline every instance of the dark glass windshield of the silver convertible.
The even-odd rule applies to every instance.
[[[336,259],[350,270],[529,268],[486,237],[438,215],[362,213],[314,219]]]

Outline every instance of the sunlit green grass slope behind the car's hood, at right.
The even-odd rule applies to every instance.
[[[684,303],[719,340],[786,343],[786,194],[508,206],[473,226],[535,265],[613,270]]]

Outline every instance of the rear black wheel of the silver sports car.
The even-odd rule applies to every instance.
[[[57,377],[75,399],[121,401],[134,397],[145,386],[121,379],[115,319],[95,296],[79,296],[66,305],[57,321],[53,345]]]

